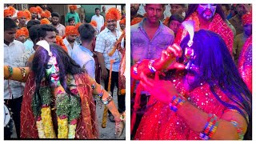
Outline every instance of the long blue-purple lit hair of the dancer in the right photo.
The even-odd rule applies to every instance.
[[[181,42],[182,50],[187,47],[190,35],[187,35]],[[207,82],[214,97],[222,103],[222,105],[238,110],[242,116],[249,116],[248,129],[246,137],[251,137],[251,120],[252,120],[252,94],[243,82],[242,77],[238,73],[238,69],[226,47],[223,39],[210,30],[199,30],[194,34],[194,42],[191,48],[194,49],[196,56],[194,62],[198,65],[200,73],[198,74],[198,82]],[[184,54],[182,55],[182,58]],[[183,59],[180,58],[179,62]],[[214,90],[214,86],[218,86],[226,94],[231,102],[237,104],[234,106],[228,102],[222,101]],[[242,110],[241,110],[242,108]],[[247,121],[246,121],[247,122]]]

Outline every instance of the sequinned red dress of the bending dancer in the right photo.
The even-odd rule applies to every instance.
[[[177,74],[171,78],[171,82],[178,92],[184,95],[187,100],[199,109],[209,114],[216,114],[219,118],[226,110],[214,94],[210,91],[210,86],[205,83],[193,91],[185,91],[182,86],[182,74]],[[228,98],[217,86],[214,87],[219,98],[228,102]],[[140,140],[199,140],[199,134],[190,129],[183,118],[179,117],[174,111],[170,110],[168,104],[158,102],[154,97],[150,97],[147,105],[148,109],[142,117],[134,139]]]

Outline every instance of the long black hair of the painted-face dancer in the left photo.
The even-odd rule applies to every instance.
[[[74,62],[72,58],[66,53],[65,50],[62,49],[61,46],[56,44],[50,45],[50,51],[53,56],[56,57],[59,67],[59,80],[61,85],[67,94],[72,94],[70,89],[66,84],[66,74],[82,74],[86,73],[85,70]],[[35,74],[35,82],[36,82],[36,94],[39,94],[39,89],[41,86],[42,78],[46,78],[46,66],[50,59],[47,50],[45,50],[42,46],[39,46],[34,54],[34,59],[32,62],[31,70],[33,70]],[[73,94],[72,94],[73,95]]]

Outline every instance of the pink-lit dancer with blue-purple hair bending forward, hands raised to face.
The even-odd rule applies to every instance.
[[[152,79],[162,70],[166,79]],[[134,139],[251,139],[251,93],[218,34],[187,35],[131,76],[152,96]]]

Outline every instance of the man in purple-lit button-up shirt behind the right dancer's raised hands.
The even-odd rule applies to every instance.
[[[174,31],[164,26],[160,21],[162,14],[165,11],[164,4],[146,4],[147,17],[142,22],[137,23],[130,28],[130,49],[131,49],[131,66],[135,62],[143,59],[156,59],[161,57],[162,50],[166,50],[167,46],[174,42]],[[130,83],[133,83],[131,79]],[[136,87],[135,87],[136,89]],[[135,92],[136,90],[134,90]],[[135,93],[133,94],[135,96]],[[150,94],[147,91],[142,91],[142,109],[138,110],[142,113],[137,114],[136,122],[140,122],[142,118],[143,109],[146,107],[146,99]],[[131,111],[134,110],[134,98],[131,98]],[[131,138],[135,134],[137,126],[132,131]]]

